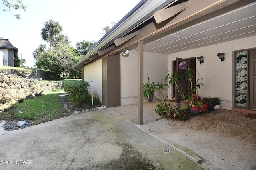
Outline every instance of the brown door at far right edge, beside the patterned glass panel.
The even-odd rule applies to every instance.
[[[256,109],[256,50],[249,52],[250,76],[249,76],[249,109]]]

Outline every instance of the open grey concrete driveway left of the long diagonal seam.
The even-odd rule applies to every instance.
[[[123,107],[119,110],[124,111]],[[0,141],[1,170],[202,169],[109,109],[12,131],[0,135]]]

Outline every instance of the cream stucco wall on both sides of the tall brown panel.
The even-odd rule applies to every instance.
[[[121,106],[136,104],[138,102],[138,73],[137,73],[137,52],[130,51],[129,56],[120,55],[120,92]],[[102,59],[85,66],[84,81],[91,82],[93,94],[99,96],[102,101]],[[168,55],[144,52],[144,82],[147,82],[147,74],[150,82],[160,82],[165,78],[165,70],[168,70]],[[168,89],[165,90],[168,93]],[[161,96],[162,94],[159,94]],[[144,102],[147,100],[145,99]]]

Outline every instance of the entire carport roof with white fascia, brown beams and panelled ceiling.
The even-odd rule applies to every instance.
[[[256,0],[142,0],[73,68],[136,49],[170,54],[256,35]],[[159,21],[160,20],[160,21]]]

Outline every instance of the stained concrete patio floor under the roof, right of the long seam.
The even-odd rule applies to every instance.
[[[223,109],[167,120],[155,113],[156,102],[144,103],[144,124],[137,124],[137,105],[109,110],[146,133],[213,170],[256,170],[256,119]],[[162,118],[162,119],[161,119]]]

